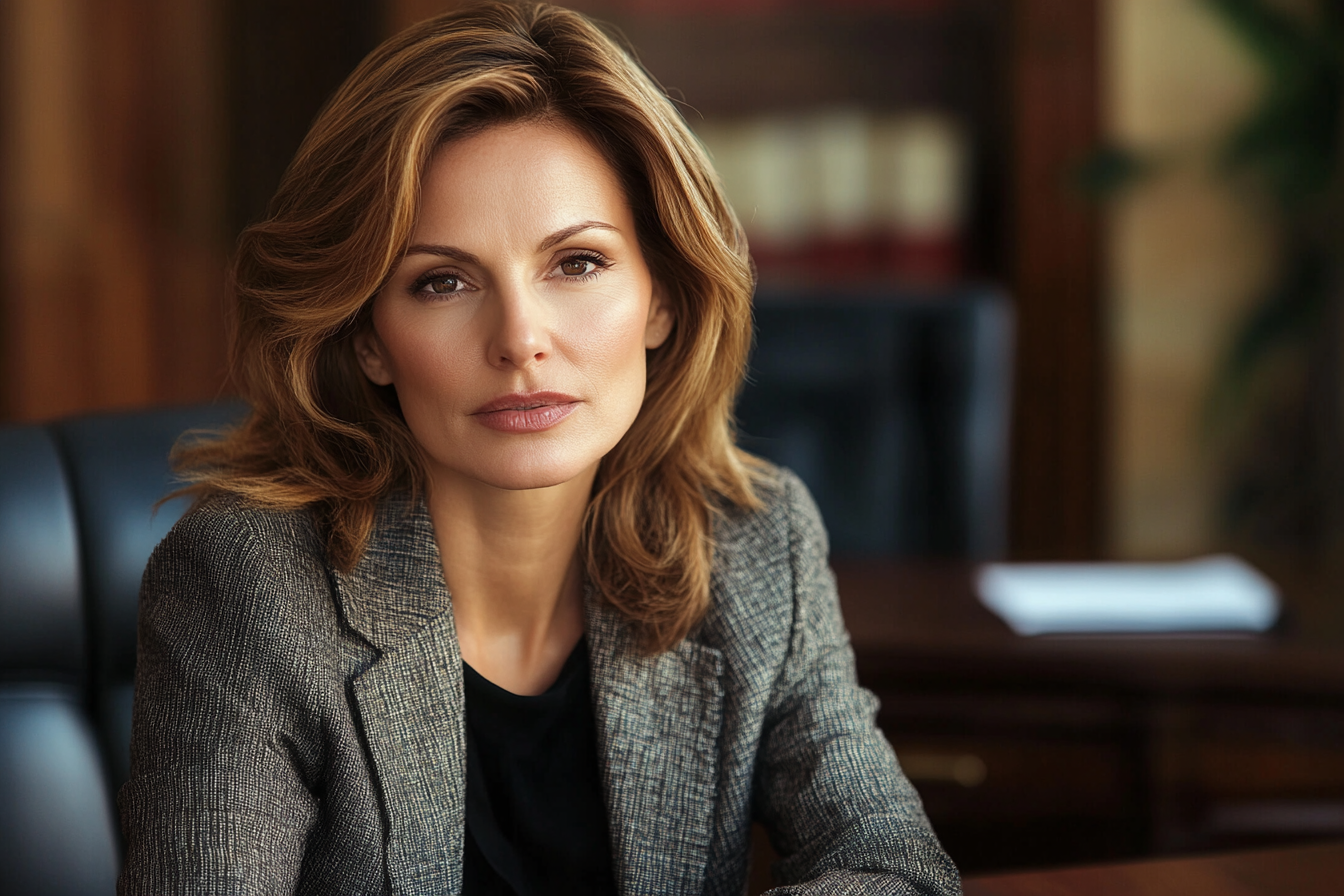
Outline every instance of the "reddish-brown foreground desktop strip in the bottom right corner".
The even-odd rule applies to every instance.
[[[965,881],[966,896],[1336,896],[1341,888],[1341,842]]]

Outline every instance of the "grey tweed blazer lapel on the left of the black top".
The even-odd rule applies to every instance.
[[[379,658],[355,677],[358,723],[387,811],[394,893],[458,893],[466,790],[462,656],[423,502],[384,501],[341,611]]]

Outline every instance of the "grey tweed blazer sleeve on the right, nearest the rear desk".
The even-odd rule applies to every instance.
[[[753,805],[781,856],[775,896],[950,895],[960,876],[875,724],[840,618],[827,536],[784,473],[793,629],[757,756]]]

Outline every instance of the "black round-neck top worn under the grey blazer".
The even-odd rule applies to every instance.
[[[462,672],[462,896],[614,896],[585,641],[535,697]]]

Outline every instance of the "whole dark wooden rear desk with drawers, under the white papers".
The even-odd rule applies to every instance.
[[[859,677],[966,872],[1344,837],[1344,596],[1269,635],[1021,638],[965,566],[836,562]]]

